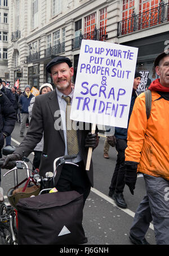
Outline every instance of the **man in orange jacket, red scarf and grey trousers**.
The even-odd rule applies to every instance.
[[[159,54],[154,62],[159,79],[154,80],[152,109],[146,118],[145,94],[136,98],[130,118],[125,150],[125,183],[134,194],[137,172],[143,173],[146,196],[136,210],[129,238],[133,244],[149,244],[145,239],[153,220],[158,245],[169,244],[169,54]]]

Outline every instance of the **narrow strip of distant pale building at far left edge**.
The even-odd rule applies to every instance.
[[[0,1],[0,77],[8,81],[8,0]]]

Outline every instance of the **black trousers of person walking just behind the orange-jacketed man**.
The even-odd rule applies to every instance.
[[[124,190],[124,171],[122,170],[122,164],[125,160],[125,149],[127,147],[127,140],[117,139],[117,143],[115,148],[118,152],[117,154],[117,162],[115,165],[113,177],[111,184],[109,186],[110,190],[115,190],[116,193],[123,193]]]

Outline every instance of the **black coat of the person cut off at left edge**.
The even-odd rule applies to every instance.
[[[10,100],[0,90],[0,149],[4,144],[4,137],[9,136],[14,127],[16,121],[16,112]]]

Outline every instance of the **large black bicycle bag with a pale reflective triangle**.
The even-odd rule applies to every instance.
[[[83,195],[41,194],[17,203],[19,245],[75,245],[87,238],[82,227]]]

